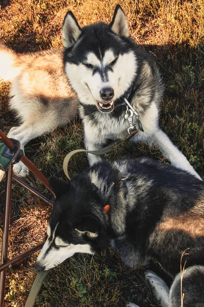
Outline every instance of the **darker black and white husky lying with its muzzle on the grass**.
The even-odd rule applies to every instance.
[[[48,270],[74,253],[94,253],[111,245],[126,265],[137,267],[154,257],[174,278],[188,249],[182,258],[182,265],[187,260],[183,306],[203,306],[203,182],[142,158],[97,162],[69,182],[52,177],[50,184],[56,200],[37,268]],[[146,272],[146,280],[162,306],[180,306],[179,275],[170,301],[163,280],[152,272]]]

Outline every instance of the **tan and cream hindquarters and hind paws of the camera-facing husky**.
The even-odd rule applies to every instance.
[[[21,148],[31,139],[67,124],[77,112],[78,99],[63,72],[62,50],[15,54],[0,44],[0,80],[11,81],[10,107],[21,121],[8,136]],[[21,177],[28,169],[19,162],[14,171]]]

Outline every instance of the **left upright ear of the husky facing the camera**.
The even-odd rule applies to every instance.
[[[64,48],[71,47],[78,40],[82,29],[71,11],[66,13],[62,26],[62,43]]]

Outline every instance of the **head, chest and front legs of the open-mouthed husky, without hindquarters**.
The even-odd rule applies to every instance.
[[[80,28],[72,12],[68,12],[63,24],[63,43],[65,73],[81,103],[86,148],[97,150],[108,139],[127,136],[129,122],[124,117],[124,98],[130,94],[128,100],[144,128],[131,140],[158,145],[172,165],[200,179],[159,127],[161,76],[155,62],[131,39],[119,5],[110,25],[99,23]],[[133,123],[137,123],[135,115]],[[100,157],[88,154],[88,159],[92,165]]]

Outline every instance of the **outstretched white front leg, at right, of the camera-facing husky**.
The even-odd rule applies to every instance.
[[[169,140],[167,135],[158,129],[151,136],[151,141],[158,145],[165,158],[169,159],[171,164],[177,168],[184,169],[202,180],[193,166],[188,162],[183,153]]]

